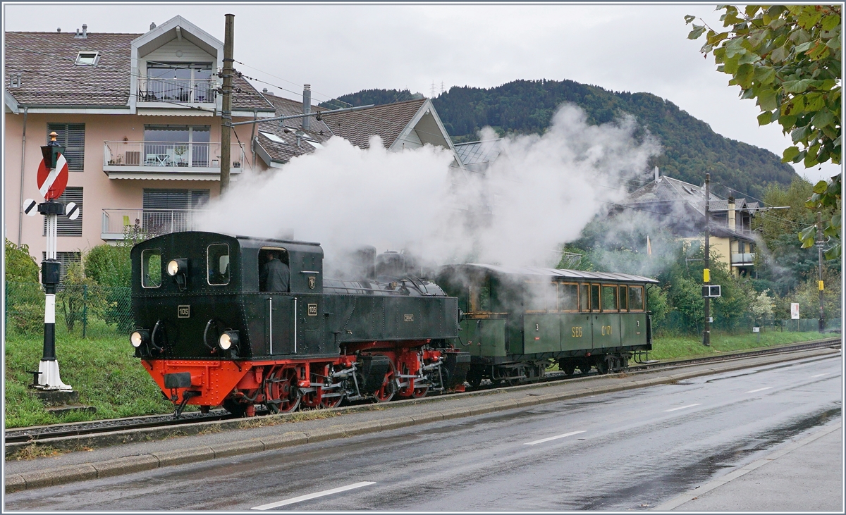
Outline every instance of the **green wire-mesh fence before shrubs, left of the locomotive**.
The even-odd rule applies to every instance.
[[[56,324],[81,337],[92,325],[107,326],[129,334],[132,318],[132,288],[100,285],[63,285],[56,293]],[[37,282],[6,282],[5,315],[7,331],[38,334],[44,329],[44,291]]]

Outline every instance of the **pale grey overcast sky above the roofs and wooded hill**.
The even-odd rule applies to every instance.
[[[431,95],[441,85],[489,88],[514,79],[571,79],[673,101],[711,129],[781,156],[777,124],[758,127],[758,107],[689,41],[684,15],[720,27],[715,3],[669,5],[287,5],[6,3],[5,30],[143,33],[177,14],[223,39],[235,15],[234,58],[244,74],[282,96],[310,84],[315,101],[372,88]],[[97,49],[91,49],[97,50]],[[290,90],[290,91],[285,91]],[[296,93],[294,93],[296,92]],[[838,173],[827,165],[799,174]]]

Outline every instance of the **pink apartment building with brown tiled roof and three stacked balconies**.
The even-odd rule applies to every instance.
[[[219,194],[223,43],[181,16],[143,34],[6,32],[4,233],[37,258],[46,243],[36,170],[41,145],[58,134],[69,163],[60,200],[80,205],[59,217],[58,259],[124,238],[190,227]],[[275,107],[243,77],[233,78],[234,121],[269,118]],[[233,180],[254,166],[249,126],[233,131]],[[64,268],[64,267],[63,267]]]

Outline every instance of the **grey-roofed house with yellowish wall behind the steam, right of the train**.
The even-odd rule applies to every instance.
[[[755,261],[751,222],[759,203],[744,198],[722,198],[713,191],[709,192],[709,200],[711,251],[735,275],[750,273]],[[689,242],[704,240],[704,186],[662,176],[656,171],[654,181],[635,189],[619,206],[615,211],[628,209],[651,216],[679,238]]]

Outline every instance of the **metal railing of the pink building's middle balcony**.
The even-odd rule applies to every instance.
[[[103,167],[220,168],[220,143],[172,143],[164,141],[104,141]],[[244,162],[244,145],[233,144],[232,168]],[[109,168],[106,168],[109,169]]]

